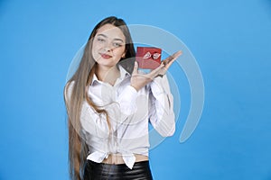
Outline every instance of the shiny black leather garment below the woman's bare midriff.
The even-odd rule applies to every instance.
[[[84,180],[153,180],[149,161],[135,162],[132,169],[125,164],[111,165],[87,160]]]

